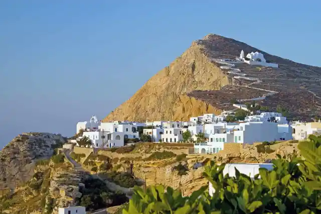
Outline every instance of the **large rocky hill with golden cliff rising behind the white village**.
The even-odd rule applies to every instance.
[[[246,79],[220,68],[222,65],[216,59],[235,59],[241,50],[261,52],[267,61],[279,67],[237,64],[234,68],[240,69]],[[211,34],[193,42],[187,51],[150,78],[104,121],[188,120],[191,116],[232,109],[232,99],[242,102],[263,97],[268,91],[276,93],[259,101],[261,106],[274,110],[281,105],[298,118],[319,115],[321,68],[282,59],[245,43]]]

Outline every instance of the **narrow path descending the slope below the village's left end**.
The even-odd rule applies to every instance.
[[[79,164],[77,161],[75,161],[74,159],[71,158],[70,152],[71,152],[71,150],[68,149],[68,150],[65,150],[65,151],[64,151],[64,154],[65,154],[66,158],[70,161],[70,163],[72,163],[72,164],[74,165],[74,168],[75,168],[76,170],[86,171],[86,172],[89,172],[89,173],[90,173],[89,170],[84,169],[81,164]],[[90,174],[91,174],[91,173],[90,173]],[[106,186],[107,186],[111,191],[113,191],[113,192],[117,192],[117,191],[123,192],[123,193],[126,194],[126,196],[127,196],[129,199],[131,198],[132,190],[131,190],[130,188],[125,188],[125,187],[119,186],[119,185],[117,185],[116,183],[113,183],[113,182],[110,182],[110,181],[108,181],[108,180],[102,179],[101,177],[99,177],[99,176],[97,176],[97,175],[95,175],[95,174],[91,174],[91,175],[92,175],[93,177],[101,180],[101,181],[104,181],[104,182],[106,183]]]

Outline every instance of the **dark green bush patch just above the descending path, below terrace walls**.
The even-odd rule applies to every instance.
[[[103,175],[99,174],[99,176],[102,176],[107,180],[126,188],[133,187],[139,184],[136,181],[136,179],[127,172],[121,173],[121,172],[112,171],[109,173],[104,173]]]

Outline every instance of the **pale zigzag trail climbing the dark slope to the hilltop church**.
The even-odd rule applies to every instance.
[[[261,97],[256,97],[256,98],[252,98],[252,99],[241,99],[241,100],[237,100],[238,102],[244,102],[244,101],[250,101],[250,100],[264,100],[267,96],[271,96],[273,94],[277,94],[278,92],[276,91],[270,91],[270,90],[266,90],[266,89],[261,89],[261,88],[255,88],[255,87],[250,87],[250,85],[255,84],[255,83],[261,83],[262,81],[259,80],[258,78],[253,78],[253,77],[245,77],[246,74],[240,73],[241,70],[238,68],[233,68],[235,65],[231,64],[231,63],[227,63],[227,62],[222,62],[219,59],[213,59],[216,63],[220,63],[223,64],[224,66],[220,66],[220,69],[230,69],[231,71],[228,71],[229,74],[234,74],[237,76],[234,76],[233,78],[235,79],[245,79],[245,80],[252,80],[252,81],[256,81],[250,84],[247,84],[246,88],[251,88],[251,89],[256,89],[256,90],[261,90],[261,91],[267,91],[269,93],[263,94],[263,96]],[[225,105],[227,103],[223,103],[221,105]]]

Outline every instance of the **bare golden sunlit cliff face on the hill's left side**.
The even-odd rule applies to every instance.
[[[219,113],[212,105],[187,96],[194,90],[216,90],[229,84],[227,75],[211,63],[202,48],[194,42],[104,121],[189,120],[191,116]]]

